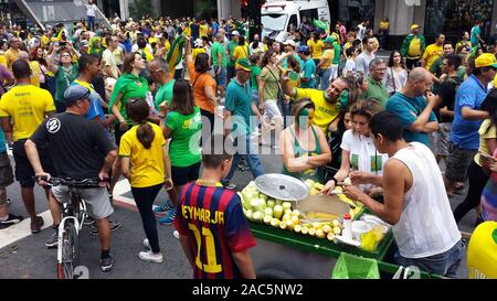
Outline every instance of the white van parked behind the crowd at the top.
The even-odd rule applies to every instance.
[[[261,17],[262,37],[271,39],[289,31],[290,26],[298,28],[303,17],[310,22],[315,19],[331,22],[327,0],[267,1],[261,8]]]

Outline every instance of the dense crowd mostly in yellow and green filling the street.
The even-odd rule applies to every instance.
[[[113,268],[110,230],[120,224],[108,217],[123,175],[147,237],[142,260],[163,260],[160,215],[176,225],[195,278],[255,277],[255,240],[231,179],[265,173],[260,146],[279,151],[282,173],[326,183],[325,193],[349,178],[345,194],[393,225],[401,265],[454,277],[464,254],[456,223],[470,209],[476,223],[497,221],[497,45],[484,45],[479,22],[457,43],[441,33],[430,45],[412,24],[383,60],[387,19],[380,41],[369,22],[320,29],[304,20],[273,41],[251,39],[234,19],[88,21],[1,28],[3,226],[22,221],[8,211],[8,147],[33,234],[44,223],[33,176],[110,179],[85,192],[103,271]],[[169,197],[152,206],[162,186]],[[465,189],[452,213],[448,195]],[[67,193],[46,190],[47,247]]]

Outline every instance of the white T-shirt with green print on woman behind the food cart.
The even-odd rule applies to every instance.
[[[377,151],[371,137],[364,137],[353,130],[348,130],[343,133],[340,148],[350,153],[350,171],[383,174],[384,163],[389,160],[389,155]],[[371,187],[371,185],[359,185],[362,191],[369,191]]]

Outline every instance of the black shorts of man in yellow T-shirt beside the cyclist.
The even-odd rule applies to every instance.
[[[32,189],[34,187],[34,170],[25,154],[24,143],[25,139],[18,140],[13,143],[12,153],[15,161],[15,180],[21,184],[22,189]],[[43,171],[50,173],[52,176],[56,175],[47,149],[38,146],[38,153]]]

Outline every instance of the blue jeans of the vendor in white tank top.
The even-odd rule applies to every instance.
[[[465,256],[465,246],[463,240],[459,240],[450,250],[425,258],[405,258],[400,255],[399,250],[396,250],[393,260],[399,266],[414,266],[420,268],[422,271],[455,278],[457,276],[457,269],[461,266],[461,261],[463,260],[463,256]]]

